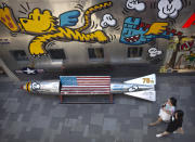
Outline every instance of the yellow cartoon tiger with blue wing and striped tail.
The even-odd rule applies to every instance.
[[[108,9],[113,5],[112,1],[95,4],[86,10],[83,26],[72,29],[66,26],[75,26],[78,22],[79,11],[68,11],[60,15],[60,25],[57,18],[49,10],[34,9],[28,17],[20,17],[18,22],[14,17],[13,11],[3,3],[0,8],[0,21],[12,33],[22,33],[36,36],[28,46],[31,55],[39,56],[47,54],[46,46],[53,41],[80,41],[80,42],[100,42],[109,41],[108,36],[103,30],[93,33],[82,33],[91,25],[91,14],[96,11]]]

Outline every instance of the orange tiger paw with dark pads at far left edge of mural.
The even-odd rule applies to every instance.
[[[18,31],[20,27],[13,15],[13,11],[5,3],[0,8],[0,22],[3,23],[11,31]]]

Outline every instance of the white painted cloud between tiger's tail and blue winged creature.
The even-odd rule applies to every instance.
[[[116,26],[117,21],[113,17],[112,14],[105,14],[101,21],[101,27],[106,28],[108,26],[114,27]]]

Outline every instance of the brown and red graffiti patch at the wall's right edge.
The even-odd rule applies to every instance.
[[[168,48],[166,51],[167,59],[160,73],[184,73],[195,70],[195,49],[194,36],[173,37],[174,48]]]

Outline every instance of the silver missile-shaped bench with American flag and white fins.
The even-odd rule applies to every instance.
[[[23,90],[53,95],[106,95],[126,94],[156,101],[156,75],[113,82],[110,76],[60,76],[58,80],[28,81]]]

